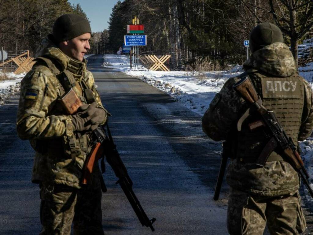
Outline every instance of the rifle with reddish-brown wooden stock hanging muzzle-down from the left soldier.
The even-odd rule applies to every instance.
[[[122,162],[120,154],[116,149],[116,145],[113,142],[110,128],[107,123],[105,125],[108,136],[106,135],[104,126],[102,125],[99,125],[99,127],[91,133],[91,139],[94,142],[94,148],[91,150],[89,156],[87,156],[82,184],[86,185],[90,182],[91,174],[93,172],[95,164],[98,162],[99,159],[103,159],[105,157],[107,162],[112,167],[116,177],[118,178],[116,184],[119,184],[121,186],[139,221],[141,222],[141,225],[150,227],[153,232],[154,228],[152,224],[156,221],[156,219],[152,218],[150,220],[147,217],[143,208],[141,207],[140,202],[138,201],[134,191],[132,190],[133,182],[131,181],[131,178],[127,173],[127,169]]]

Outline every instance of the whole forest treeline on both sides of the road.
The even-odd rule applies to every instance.
[[[32,55],[59,15],[78,13],[87,18],[79,4],[68,0],[0,0],[0,7],[0,46],[28,49]],[[195,61],[242,64],[243,41],[262,22],[280,27],[295,58],[297,45],[313,36],[311,0],[124,0],[113,7],[109,28],[93,33],[90,53],[116,53],[135,15],[147,35],[147,46],[140,50],[172,55],[172,68]]]

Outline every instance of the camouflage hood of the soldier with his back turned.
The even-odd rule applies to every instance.
[[[295,73],[295,60],[286,44],[275,42],[251,55],[244,63],[244,70],[251,68],[274,76],[288,77]]]

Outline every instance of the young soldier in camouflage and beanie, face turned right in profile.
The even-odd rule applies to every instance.
[[[88,187],[81,185],[89,133],[106,122],[94,78],[83,55],[90,49],[89,22],[60,16],[53,34],[36,52],[37,62],[21,83],[17,131],[35,149],[32,182],[40,185],[40,234],[104,234],[98,167]],[[59,98],[73,89],[83,106],[69,115]]]

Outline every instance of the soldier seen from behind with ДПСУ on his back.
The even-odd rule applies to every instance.
[[[245,73],[230,78],[214,97],[202,119],[203,131],[215,141],[229,145],[227,183],[230,185],[227,225],[230,234],[299,234],[305,231],[300,206],[299,176],[275,149],[264,167],[255,164],[268,141],[263,128],[253,132],[250,114],[237,124],[249,108],[233,85],[249,76],[266,109],[274,111],[286,134],[297,145],[313,128],[310,84],[295,70],[294,58],[283,43],[280,29],[270,23],[256,26],[250,34],[251,57]]]

